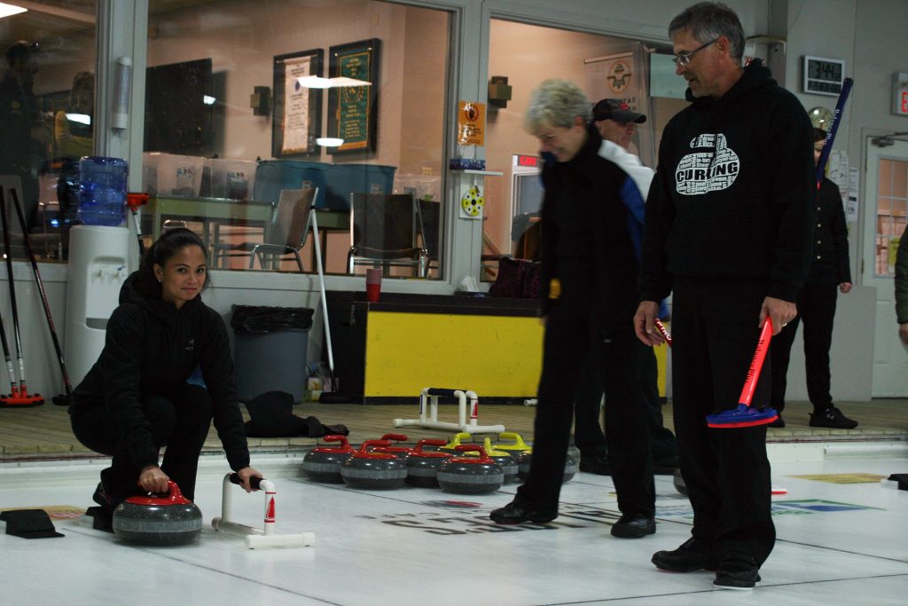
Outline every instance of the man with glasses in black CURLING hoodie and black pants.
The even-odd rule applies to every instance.
[[[774,333],[795,318],[816,190],[812,126],[758,61],[742,69],[744,31],[727,6],[693,5],[668,34],[693,103],[660,145],[634,323],[644,343],[662,343],[657,302],[674,294],[675,429],[694,527],[653,563],[752,589],[775,543],[765,425],[710,428],[706,415],[737,407],[765,318]],[[768,404],[763,371],[754,407]]]

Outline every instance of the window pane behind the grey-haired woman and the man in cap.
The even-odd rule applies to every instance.
[[[532,41],[531,45],[527,41]],[[504,176],[485,178],[483,214],[483,280],[495,280],[496,256],[538,258],[538,182],[540,144],[524,130],[529,95],[548,78],[578,84],[592,105],[611,98],[646,114],[622,144],[655,166],[655,148],[669,118],[686,106],[670,98],[650,98],[646,72],[652,50],[635,40],[573,32],[493,19],[489,27],[489,79],[507,76],[507,101],[489,101],[486,166]],[[666,51],[667,52],[667,51]],[[677,77],[674,76],[673,77]],[[677,79],[681,82],[680,77]],[[616,143],[618,143],[616,141]]]

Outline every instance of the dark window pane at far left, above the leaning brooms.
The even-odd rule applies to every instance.
[[[77,176],[78,158],[92,153],[95,4],[31,2],[28,11],[5,17],[0,28],[5,60],[0,174],[13,175],[21,184],[17,195],[33,251],[42,260],[66,257],[76,198],[65,184]],[[10,229],[21,232],[11,200],[6,202]],[[14,256],[25,257],[25,247],[11,240]]]

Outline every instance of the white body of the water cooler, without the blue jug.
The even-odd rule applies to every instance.
[[[69,232],[64,357],[73,385],[83,380],[104,349],[107,319],[130,273],[130,242],[125,227],[76,225]]]

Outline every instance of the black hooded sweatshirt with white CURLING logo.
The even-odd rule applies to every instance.
[[[646,201],[640,299],[672,276],[765,280],[794,302],[810,263],[813,131],[794,94],[759,62],[718,98],[694,98],[666,125]]]

